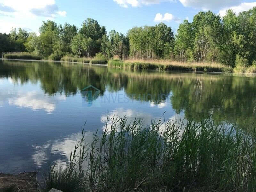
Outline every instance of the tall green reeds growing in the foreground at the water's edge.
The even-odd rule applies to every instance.
[[[254,131],[210,120],[177,122],[147,126],[113,117],[86,145],[82,133],[71,165],[62,172],[80,175],[84,191],[256,190]],[[60,189],[57,180],[49,185]]]

